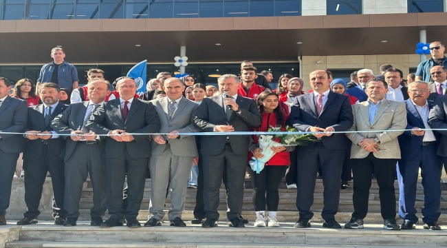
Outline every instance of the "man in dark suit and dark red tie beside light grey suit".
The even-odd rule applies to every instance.
[[[124,77],[116,83],[119,99],[103,103],[85,121],[85,127],[105,138],[107,166],[107,207],[110,218],[100,227],[122,225],[122,188],[127,173],[128,227],[140,227],[137,220],[144,193],[146,169],[151,157],[151,142],[147,134],[160,130],[160,121],[152,103],[135,99],[136,83]],[[136,135],[132,135],[132,133]]]

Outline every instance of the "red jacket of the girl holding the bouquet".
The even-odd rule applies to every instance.
[[[275,113],[261,113],[262,123],[259,127],[252,127],[252,130],[259,132],[267,132],[270,126],[276,126],[276,114]],[[284,116],[284,123],[282,123],[281,127],[285,127],[285,122],[287,121],[287,115]],[[258,137],[253,135],[254,143],[258,144]],[[248,161],[252,160],[252,152],[248,154]],[[289,152],[279,152],[276,153],[270,158],[268,163],[265,165],[290,165],[290,153]]]

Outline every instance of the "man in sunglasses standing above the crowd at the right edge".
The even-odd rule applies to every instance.
[[[433,41],[430,43],[429,49],[431,58],[422,61],[419,65],[417,65],[417,70],[415,73],[416,81],[433,81],[430,78],[430,68],[433,68],[435,65],[447,67],[447,58],[444,56],[444,51],[446,50],[446,48],[444,48],[444,43],[441,41]]]

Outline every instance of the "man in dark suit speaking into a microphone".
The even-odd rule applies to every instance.
[[[239,78],[224,74],[217,82],[222,95],[204,99],[197,108],[195,125],[203,132],[249,132],[261,125],[261,114],[252,100],[237,95]],[[228,96],[228,97],[226,97]],[[202,227],[215,227],[219,220],[219,188],[223,172],[229,179],[228,225],[244,227],[239,219],[243,200],[243,181],[248,156],[248,135],[201,137],[201,159],[204,166],[204,209]]]

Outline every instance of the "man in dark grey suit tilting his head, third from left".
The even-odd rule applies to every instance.
[[[51,124],[58,134],[73,134],[63,136],[67,145],[65,152],[61,154],[65,162],[66,175],[64,207],[67,209],[67,221],[64,226],[76,225],[80,196],[88,174],[93,187],[94,205],[90,209],[90,225],[99,226],[107,208],[107,172],[105,158],[101,156],[104,142],[101,142],[94,132],[90,132],[84,126],[84,122],[104,102],[109,87],[110,84],[102,80],[89,81],[87,84],[89,101],[69,105]]]

